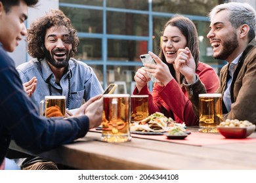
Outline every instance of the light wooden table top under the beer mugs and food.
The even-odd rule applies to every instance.
[[[75,169],[256,169],[256,141],[193,146],[140,138],[107,143],[100,137],[101,133],[90,131],[83,139],[41,154],[13,141],[9,148]],[[256,138],[256,133],[249,137]]]

